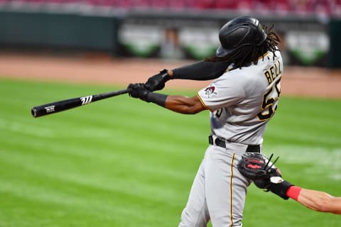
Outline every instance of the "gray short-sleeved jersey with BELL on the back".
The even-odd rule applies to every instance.
[[[225,72],[201,89],[197,96],[211,111],[212,135],[235,143],[263,143],[266,124],[277,108],[281,93],[281,52],[267,52],[257,65]]]

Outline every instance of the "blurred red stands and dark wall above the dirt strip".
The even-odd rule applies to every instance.
[[[283,40],[288,65],[341,67],[339,0],[1,0],[0,45],[202,59],[230,18],[256,16]]]

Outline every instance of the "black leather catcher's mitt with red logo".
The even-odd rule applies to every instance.
[[[239,172],[247,179],[269,179],[274,176],[281,176],[278,169],[274,167],[275,162],[279,157],[270,162],[271,157],[268,159],[265,155],[260,153],[245,153],[242,159],[238,162],[237,168]]]

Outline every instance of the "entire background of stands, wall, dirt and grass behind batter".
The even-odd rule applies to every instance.
[[[294,184],[341,196],[340,0],[0,0],[0,226],[176,226],[207,113],[127,96],[37,119],[31,107],[214,55],[220,27],[239,15],[275,25],[286,64],[264,153],[281,156]],[[249,189],[244,226],[340,223]]]

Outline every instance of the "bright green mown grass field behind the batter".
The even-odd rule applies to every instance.
[[[207,147],[208,112],[185,116],[122,95],[31,116],[32,106],[115,89],[123,88],[0,80],[1,227],[178,225]],[[292,183],[341,196],[340,113],[341,100],[283,96],[264,153],[281,156]],[[244,226],[340,224],[249,187]]]

